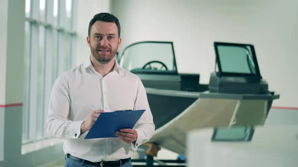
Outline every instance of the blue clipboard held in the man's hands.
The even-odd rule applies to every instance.
[[[124,110],[101,113],[85,139],[117,137],[116,131],[132,129],[144,112],[145,110]]]

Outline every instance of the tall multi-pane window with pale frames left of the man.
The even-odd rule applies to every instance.
[[[58,75],[72,67],[76,0],[26,0],[22,142],[47,138],[49,96]]]

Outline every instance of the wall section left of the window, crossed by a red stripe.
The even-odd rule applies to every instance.
[[[24,1],[0,3],[0,166],[7,166],[11,155],[18,159],[21,148],[22,128],[18,125],[22,123],[22,109],[5,105],[23,101],[24,6]]]

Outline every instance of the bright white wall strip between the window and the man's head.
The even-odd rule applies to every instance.
[[[74,65],[77,66],[84,62],[90,55],[90,48],[87,44],[86,37],[88,36],[88,26],[90,20],[97,13],[110,12],[109,0],[79,0],[77,4],[77,43],[76,43],[76,60]]]

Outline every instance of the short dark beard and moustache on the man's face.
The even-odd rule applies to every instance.
[[[107,52],[107,54],[101,54],[98,50],[100,49],[107,49],[109,50]],[[107,64],[109,63],[113,57],[116,55],[117,53],[117,49],[112,50],[111,48],[105,48],[105,47],[100,47],[100,48],[90,48],[90,51],[92,53],[92,56],[101,64]]]

